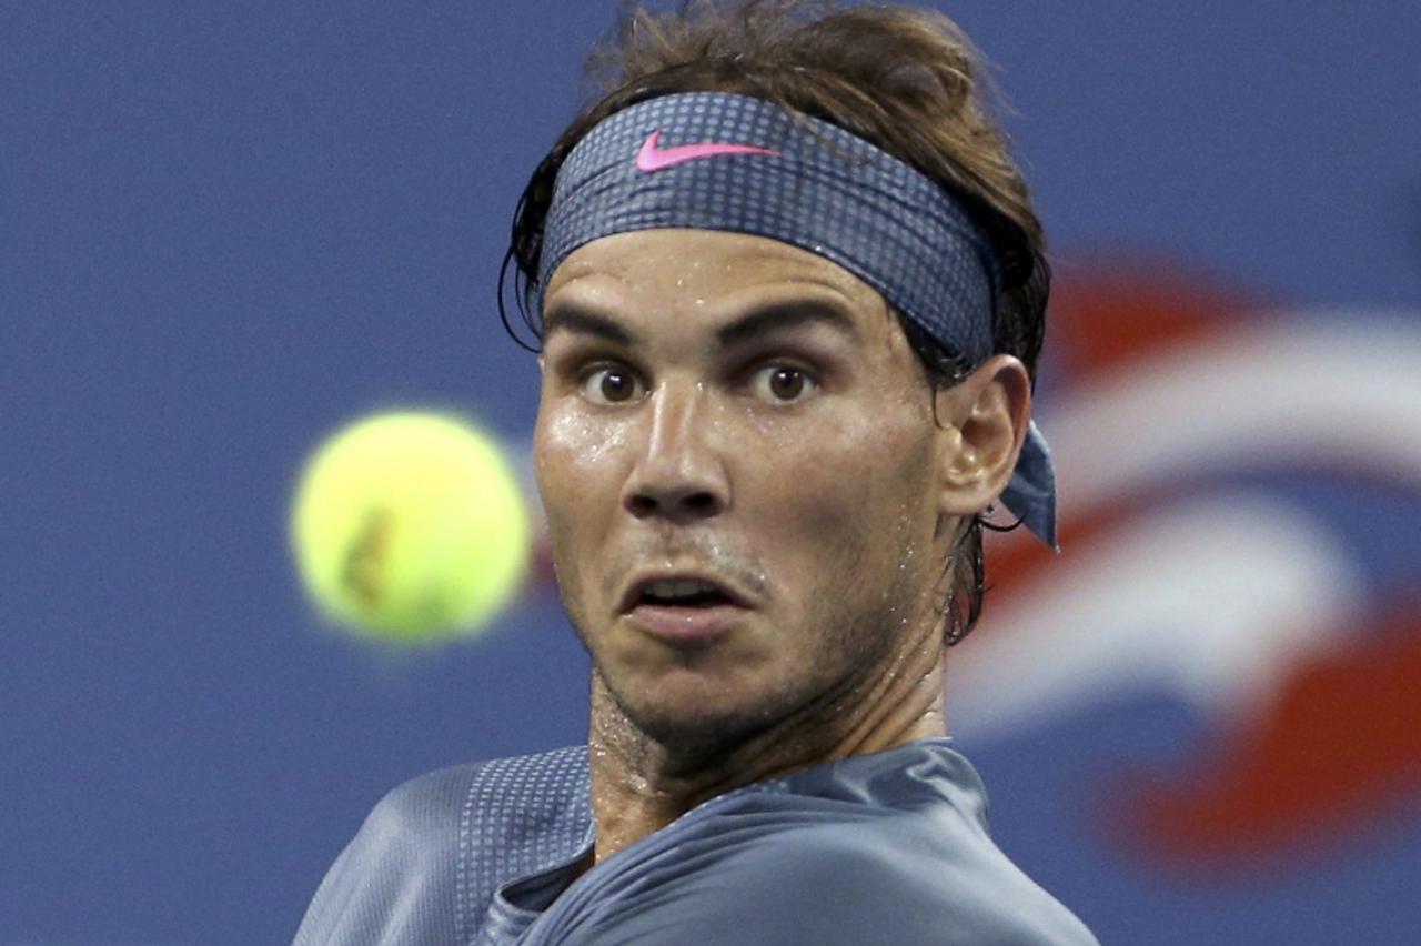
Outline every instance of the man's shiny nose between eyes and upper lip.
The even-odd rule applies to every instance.
[[[645,440],[622,490],[622,506],[637,518],[686,524],[729,507],[729,479],[708,398],[701,385],[664,382],[652,392]]]

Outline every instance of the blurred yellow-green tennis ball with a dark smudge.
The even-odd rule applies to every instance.
[[[530,547],[503,452],[450,415],[378,413],[338,430],[307,460],[291,504],[311,601],[395,643],[479,631],[517,592]]]

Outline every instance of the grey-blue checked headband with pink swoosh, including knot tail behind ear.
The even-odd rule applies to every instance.
[[[938,185],[850,132],[720,92],[664,95],[594,126],[563,162],[539,257],[614,233],[692,227],[797,246],[874,287],[938,344],[992,355],[1000,288],[982,229]],[[1002,504],[1053,548],[1056,479],[1032,423]]]

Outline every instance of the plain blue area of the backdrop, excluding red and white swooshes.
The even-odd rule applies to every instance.
[[[999,67],[1063,281],[1118,253],[1421,311],[1421,6],[944,9]],[[0,6],[0,942],[286,940],[389,787],[581,739],[554,597],[372,651],[310,614],[286,520],[368,411],[526,442],[495,277],[612,11]],[[1404,942],[1417,908],[1370,906],[1414,899],[1415,818],[1233,888],[1090,839],[1080,750],[1194,726],[1147,695],[968,750],[1003,845],[1107,942]]]

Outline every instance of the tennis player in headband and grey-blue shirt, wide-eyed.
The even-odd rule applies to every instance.
[[[918,9],[631,11],[512,263],[585,746],[384,798],[298,943],[1094,943],[992,842],[948,649],[1054,545],[1042,227]]]

